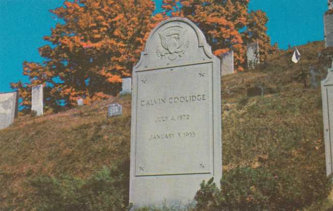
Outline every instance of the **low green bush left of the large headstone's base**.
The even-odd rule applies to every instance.
[[[36,193],[35,208],[45,211],[127,210],[129,175],[123,172],[128,171],[128,164],[122,164],[111,169],[103,167],[87,179],[72,176],[31,179],[29,183]]]

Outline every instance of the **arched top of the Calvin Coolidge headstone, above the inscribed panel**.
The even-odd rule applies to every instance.
[[[133,71],[196,64],[218,60],[204,34],[186,18],[160,22],[150,33],[145,50]]]

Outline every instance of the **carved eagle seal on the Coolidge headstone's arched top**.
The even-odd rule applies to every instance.
[[[157,57],[168,58],[170,61],[174,61],[185,54],[189,46],[189,41],[186,40],[186,33],[187,30],[178,25],[168,27],[158,33],[161,43],[156,47]]]

